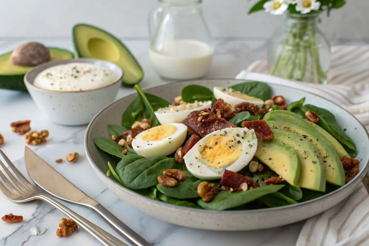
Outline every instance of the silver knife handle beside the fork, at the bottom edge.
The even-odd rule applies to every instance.
[[[104,208],[101,204],[90,206],[94,211],[96,211],[108,224],[113,226],[115,231],[121,233],[124,239],[128,240],[134,246],[152,246],[151,243],[147,242],[144,238],[138,235],[137,232],[133,231],[126,224],[120,221],[117,217]]]

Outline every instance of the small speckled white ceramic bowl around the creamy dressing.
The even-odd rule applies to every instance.
[[[107,67],[118,74],[113,84],[84,91],[50,91],[33,85],[35,77],[48,67],[72,63],[92,63]],[[39,110],[52,122],[60,125],[86,125],[117,96],[123,77],[122,69],[114,63],[96,59],[55,60],[35,67],[24,76],[24,83]]]

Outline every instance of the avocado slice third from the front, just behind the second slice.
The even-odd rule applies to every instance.
[[[345,171],[334,148],[317,131],[301,125],[289,124],[282,121],[267,121],[270,128],[279,128],[294,132],[309,141],[323,158],[325,166],[325,180],[328,183],[343,186],[345,184]]]

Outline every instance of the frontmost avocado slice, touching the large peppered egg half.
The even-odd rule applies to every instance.
[[[258,139],[255,156],[289,184],[299,186],[301,164],[293,148],[274,139],[268,141]]]

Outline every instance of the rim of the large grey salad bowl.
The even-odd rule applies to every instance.
[[[181,82],[175,82],[175,83],[188,83],[188,82],[196,82],[196,81],[211,81],[211,80],[224,80],[224,81],[247,81],[247,80],[244,80],[244,79],[202,79],[202,80],[185,80],[185,81],[181,81]],[[263,83],[266,83],[268,85],[272,84],[272,83],[268,83],[268,82],[263,82]],[[154,87],[150,87],[150,88],[146,88],[145,90],[149,90],[149,89],[153,89],[153,88],[160,88],[160,87],[165,87],[167,86],[168,84],[163,84],[163,85],[159,85],[159,86],[154,86]],[[272,84],[272,85],[275,85],[275,84]],[[290,86],[286,86],[286,85],[282,85],[282,84],[277,84],[278,86],[283,86],[283,87],[287,87],[287,88],[291,88],[291,89],[296,89],[296,90],[299,90],[299,91],[304,91],[304,90],[301,90],[301,89],[297,89],[297,88],[293,88],[293,87],[290,87]],[[143,90],[143,91],[145,91]],[[308,91],[304,91],[308,94],[311,94],[313,96],[317,96],[319,98],[322,98],[324,100],[327,100],[317,94],[314,94],[314,93],[310,93]],[[90,150],[87,146],[87,138],[88,138],[88,135],[89,135],[89,131],[90,131],[90,128],[93,124],[93,122],[96,120],[97,117],[99,117],[99,115],[105,111],[107,108],[113,106],[114,104],[116,103],[119,103],[121,100],[129,97],[129,96],[132,96],[134,94],[130,94],[130,95],[127,95],[123,98],[120,98],[119,100],[117,101],[114,101],[113,103],[107,105],[103,110],[101,110],[99,113],[97,113],[93,119],[91,120],[91,122],[89,123],[87,129],[86,129],[86,133],[85,133],[85,141],[84,141],[84,146],[85,146],[85,152],[86,152],[86,156],[87,156],[87,159],[89,160],[90,162],[90,165],[93,169],[96,169],[97,172],[99,172],[100,174],[102,174],[102,176],[104,177],[104,180],[106,180],[107,182],[109,182],[111,185],[113,185],[115,188],[118,188],[119,190],[121,191],[124,191],[125,193],[129,193],[130,195],[133,195],[135,197],[140,197],[140,198],[143,198],[144,200],[148,201],[148,202],[154,202],[156,205],[159,205],[159,206],[165,206],[165,207],[168,207],[168,208],[173,208],[173,209],[182,209],[182,210],[186,210],[186,211],[192,211],[192,212],[200,212],[200,213],[206,213],[206,214],[222,214],[222,215],[231,215],[231,214],[252,214],[252,213],[255,213],[255,212],[268,212],[268,211],[285,211],[286,209],[292,209],[292,208],[296,208],[296,207],[299,207],[299,206],[304,206],[304,205],[308,205],[308,204],[311,204],[315,201],[319,201],[321,199],[324,199],[324,198],[327,198],[327,197],[331,197],[332,195],[335,195],[336,193],[339,193],[341,190],[347,188],[348,186],[351,186],[352,184],[354,184],[358,179],[362,179],[361,176],[364,172],[367,171],[368,169],[368,166],[369,166],[369,159],[367,160],[367,162],[365,163],[365,165],[363,166],[363,168],[359,171],[358,174],[356,174],[356,176],[354,177],[354,179],[350,180],[348,183],[344,184],[343,186],[339,187],[337,190],[334,190],[328,194],[325,194],[325,195],[322,195],[321,197],[317,197],[317,198],[314,198],[312,200],[308,200],[308,201],[304,201],[304,202],[299,202],[299,203],[296,203],[296,204],[291,204],[291,205],[286,205],[286,206],[282,206],[282,207],[274,207],[274,208],[258,208],[258,209],[249,209],[249,210],[209,210],[209,209],[203,209],[203,208],[190,208],[190,207],[184,207],[184,206],[179,206],[179,205],[175,205],[175,204],[170,204],[170,203],[166,203],[166,202],[163,202],[163,201],[160,201],[160,200],[154,200],[154,199],[151,199],[151,198],[148,198],[148,197],[145,197],[144,195],[141,195],[133,190],[130,190],[128,189],[127,187],[124,187],[122,186],[121,184],[118,184],[116,181],[110,179],[109,177],[106,176],[106,173],[104,173],[103,171],[101,171],[101,169],[96,165],[96,163],[93,161],[91,155],[90,155]],[[327,100],[329,101],[329,100]],[[334,105],[336,105],[338,108],[340,108],[341,110],[343,111],[346,111],[348,114],[351,115],[351,117],[353,117],[356,121],[359,122],[359,124],[361,125],[361,127],[363,128],[364,132],[366,133],[366,137],[367,139],[369,140],[369,132],[368,130],[365,128],[365,126],[354,116],[352,115],[349,111],[347,111],[345,108],[342,108],[341,106],[339,106],[338,104],[330,101],[331,103],[333,103]],[[99,175],[97,175],[99,176]],[[101,178],[100,178],[101,179]],[[360,181],[361,182],[361,181]],[[109,188],[109,187],[108,187]],[[110,190],[110,188],[109,188]]]

